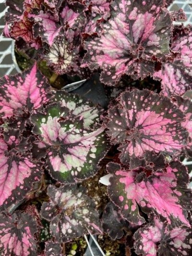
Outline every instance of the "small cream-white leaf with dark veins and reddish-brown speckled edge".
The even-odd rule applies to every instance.
[[[65,32],[62,31],[62,33]],[[63,35],[58,37],[52,46],[48,48],[45,59],[56,73],[69,73],[72,69],[78,69],[78,52],[79,46],[74,46],[70,40],[67,40],[66,35]]]

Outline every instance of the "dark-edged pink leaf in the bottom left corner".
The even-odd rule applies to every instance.
[[[26,213],[0,214],[0,255],[36,256],[36,222]]]

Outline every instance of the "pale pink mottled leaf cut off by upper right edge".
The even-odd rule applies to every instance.
[[[184,27],[179,28],[171,46],[174,59],[163,63],[161,70],[153,74],[155,79],[161,80],[165,96],[182,96],[192,89],[192,28],[189,31]]]

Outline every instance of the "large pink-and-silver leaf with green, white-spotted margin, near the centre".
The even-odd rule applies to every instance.
[[[34,133],[40,134],[47,147],[51,176],[62,183],[74,183],[94,175],[109,148],[105,128],[85,129],[83,117],[67,116],[69,109],[57,104],[45,111],[33,115],[32,122]]]

